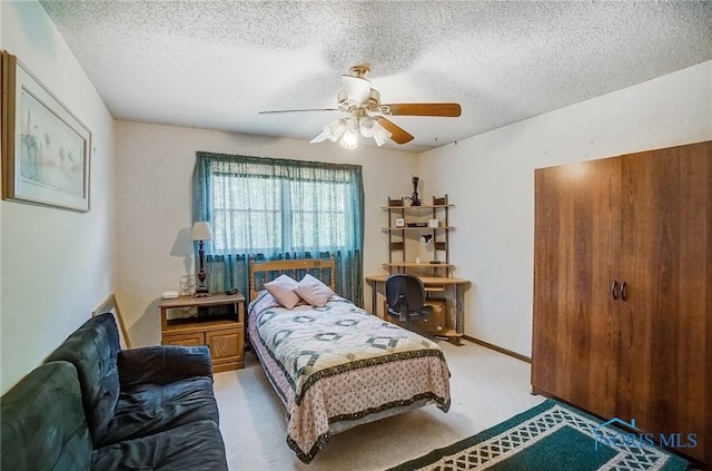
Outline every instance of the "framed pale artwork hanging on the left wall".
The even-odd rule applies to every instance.
[[[0,55],[2,198],[89,212],[91,131],[17,57]]]

